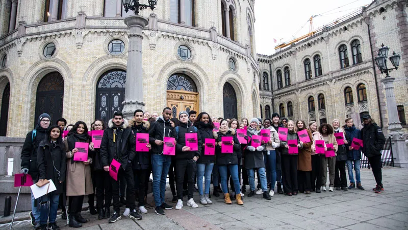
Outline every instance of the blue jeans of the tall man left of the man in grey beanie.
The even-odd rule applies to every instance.
[[[156,206],[164,203],[164,193],[166,192],[166,179],[171,165],[170,155],[151,154],[151,168],[153,171],[153,196]]]

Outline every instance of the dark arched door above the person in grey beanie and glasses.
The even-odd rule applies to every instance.
[[[37,87],[37,99],[35,104],[34,124],[42,113],[48,113],[51,122],[62,117],[64,104],[64,79],[58,72],[45,75]]]

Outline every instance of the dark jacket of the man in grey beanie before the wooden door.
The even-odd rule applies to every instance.
[[[176,128],[179,127],[179,133],[176,132]],[[175,159],[192,159],[194,156],[200,157],[202,149],[202,141],[200,132],[194,128],[190,122],[180,123],[179,126],[174,127],[171,136],[174,137],[177,142],[175,145]],[[186,133],[197,133],[197,145],[198,151],[183,152],[183,147],[186,146]]]

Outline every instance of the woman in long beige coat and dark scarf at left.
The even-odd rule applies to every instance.
[[[92,158],[88,155],[88,159],[85,162],[74,160],[75,153],[78,152],[78,149],[75,148],[75,143],[79,142],[88,143],[88,145],[90,142],[88,127],[83,121],[75,123],[64,140],[67,157],[66,195],[69,196],[70,227],[80,227],[82,226],[81,223],[87,222],[81,216],[82,203],[84,202],[85,195],[93,193],[90,166]]]

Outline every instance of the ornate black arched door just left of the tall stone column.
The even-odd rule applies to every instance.
[[[110,70],[100,76],[96,84],[95,119],[108,122],[113,113],[122,111],[126,71]]]

